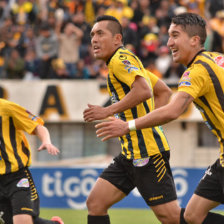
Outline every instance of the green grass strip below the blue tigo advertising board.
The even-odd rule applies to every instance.
[[[220,212],[224,215],[224,211]],[[149,209],[110,209],[112,224],[159,224],[153,212]],[[40,216],[50,219],[60,216],[65,224],[86,224],[87,210],[72,209],[41,209]]]

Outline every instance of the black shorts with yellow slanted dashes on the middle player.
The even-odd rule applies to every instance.
[[[169,165],[169,151],[138,161],[120,154],[100,175],[126,195],[135,187],[149,206],[177,199]],[[135,165],[134,165],[135,163]]]

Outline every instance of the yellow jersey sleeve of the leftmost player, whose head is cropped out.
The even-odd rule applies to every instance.
[[[17,129],[32,134],[38,125],[44,125],[44,121],[30,113],[18,104],[10,104],[10,113]]]

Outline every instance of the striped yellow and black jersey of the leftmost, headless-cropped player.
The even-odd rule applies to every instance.
[[[0,175],[31,164],[31,150],[24,132],[32,134],[43,123],[23,107],[0,99]]]

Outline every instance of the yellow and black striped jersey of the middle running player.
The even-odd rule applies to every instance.
[[[152,84],[155,85],[158,80],[152,75],[153,83],[151,84],[150,72],[144,69],[137,56],[123,47],[114,53],[107,65],[109,69],[107,87],[112,103],[122,100],[128,94],[136,76],[144,77],[151,89]],[[152,97],[114,116],[129,121],[144,116],[154,110],[154,107],[154,98]],[[167,139],[160,126],[131,131],[127,135],[120,137],[120,141],[122,154],[127,159],[145,158],[169,150]]]

